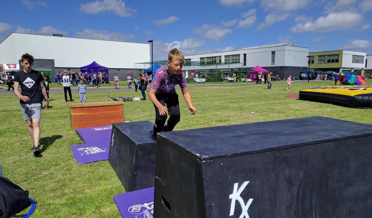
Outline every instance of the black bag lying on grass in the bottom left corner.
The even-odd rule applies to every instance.
[[[28,191],[0,176],[0,217],[8,218],[28,206]]]

